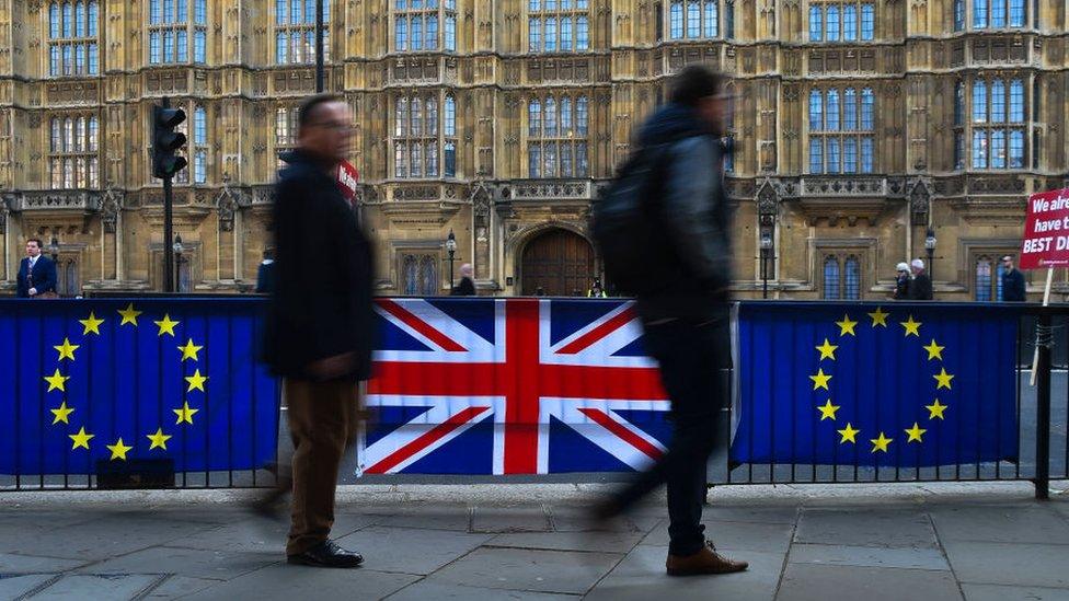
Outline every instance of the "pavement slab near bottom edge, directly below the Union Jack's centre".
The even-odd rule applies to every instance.
[[[614,553],[482,547],[428,580],[491,589],[583,594],[623,557]]]

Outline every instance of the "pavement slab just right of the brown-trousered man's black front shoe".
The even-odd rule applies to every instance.
[[[376,525],[343,536],[337,544],[363,554],[368,569],[427,575],[492,538],[492,534]]]

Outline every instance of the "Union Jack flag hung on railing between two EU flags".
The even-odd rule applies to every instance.
[[[358,474],[640,470],[668,401],[628,301],[380,299]]]

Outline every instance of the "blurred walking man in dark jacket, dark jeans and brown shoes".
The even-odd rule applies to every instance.
[[[647,354],[657,360],[671,401],[670,447],[647,472],[602,502],[599,519],[611,518],[662,484],[668,485],[668,558],[673,576],[726,574],[746,569],[716,553],[701,524],[705,464],[726,403],[720,369],[728,365],[724,335],[731,282],[729,209],[724,192],[720,138],[728,97],[726,79],[705,67],[683,69],[670,103],[642,127],[640,153],[657,159],[650,209],[650,249],[658,281],[637,290]],[[647,188],[650,189],[650,188]],[[637,267],[636,267],[637,268]]]

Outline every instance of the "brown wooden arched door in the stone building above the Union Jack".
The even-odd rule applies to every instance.
[[[550,230],[527,243],[520,265],[525,296],[586,294],[594,280],[594,249],[582,235]]]

